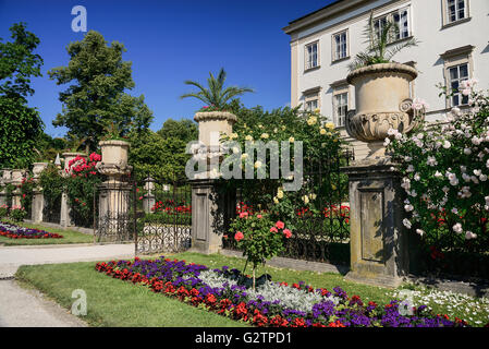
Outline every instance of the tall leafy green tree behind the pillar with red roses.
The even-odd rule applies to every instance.
[[[71,84],[60,93],[63,110],[53,125],[66,127],[72,136],[85,141],[87,151],[96,149],[103,135],[124,137],[143,132],[152,120],[144,96],[125,93],[135,85],[132,63],[122,60],[125,51],[123,44],[109,46],[100,33],[90,31],[83,40],[68,46],[68,67],[48,72],[58,85]]]

